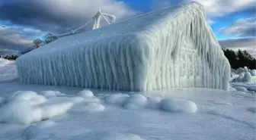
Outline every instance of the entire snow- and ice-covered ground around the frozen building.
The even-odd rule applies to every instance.
[[[14,62],[0,61],[1,140],[256,138],[252,84],[232,83],[230,92],[111,92],[10,82],[15,69]]]

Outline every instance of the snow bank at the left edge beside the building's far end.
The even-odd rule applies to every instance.
[[[15,61],[0,58],[0,83],[13,82],[18,79]]]

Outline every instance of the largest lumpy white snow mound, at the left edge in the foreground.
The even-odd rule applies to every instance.
[[[55,93],[55,94],[53,94]],[[0,106],[0,122],[30,124],[47,120],[59,115],[66,114],[77,104],[85,104],[84,107],[76,108],[76,111],[104,110],[98,98],[85,99],[81,96],[56,97],[55,91],[41,92],[18,91],[8,97],[5,104]],[[51,96],[51,98],[46,98]],[[80,110],[78,110],[80,109]]]

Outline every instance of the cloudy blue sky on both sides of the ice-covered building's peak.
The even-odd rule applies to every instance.
[[[195,0],[220,44],[256,55],[256,0]],[[46,33],[64,33],[82,25],[101,8],[117,19],[181,5],[191,0],[1,0],[0,51],[19,51]]]

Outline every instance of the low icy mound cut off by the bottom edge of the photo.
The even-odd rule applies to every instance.
[[[91,132],[88,134],[78,135],[71,140],[77,139],[90,139],[90,140],[145,140],[139,137],[139,135],[131,133],[119,133],[119,132]]]

